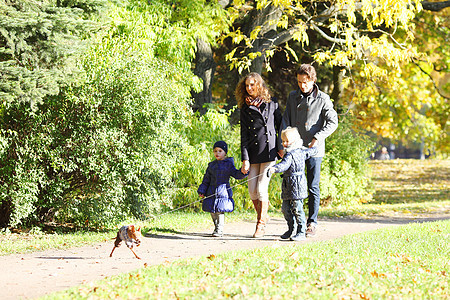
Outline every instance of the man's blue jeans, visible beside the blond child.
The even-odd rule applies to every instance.
[[[306,160],[306,177],[308,179],[308,220],[306,224],[317,225],[320,205],[320,167],[323,157],[311,157]]]

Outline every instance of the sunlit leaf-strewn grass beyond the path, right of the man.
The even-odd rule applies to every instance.
[[[359,206],[322,207],[336,218],[430,217],[450,215],[450,160],[371,161],[373,199]]]

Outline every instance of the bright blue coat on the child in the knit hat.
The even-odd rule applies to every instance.
[[[202,209],[207,212],[232,212],[234,210],[233,192],[230,188],[230,177],[245,178],[241,170],[234,166],[234,159],[214,160],[208,164],[202,184],[197,192],[205,195]]]

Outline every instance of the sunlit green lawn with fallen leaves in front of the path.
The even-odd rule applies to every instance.
[[[448,299],[450,220],[185,259],[44,299]]]

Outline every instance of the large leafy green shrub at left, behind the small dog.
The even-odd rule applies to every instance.
[[[3,111],[2,226],[55,220],[105,227],[145,218],[170,198],[195,80],[188,63],[174,65],[155,50],[155,30],[172,30],[158,27],[163,12],[116,8],[117,26],[105,25],[80,57],[82,81],[61,86],[36,113],[23,103]]]

